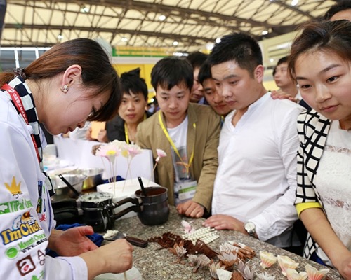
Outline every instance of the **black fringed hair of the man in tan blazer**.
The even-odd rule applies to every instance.
[[[154,90],[161,86],[171,90],[175,85],[184,84],[189,90],[194,84],[192,65],[186,59],[180,57],[164,57],[159,60],[151,71],[151,84]]]

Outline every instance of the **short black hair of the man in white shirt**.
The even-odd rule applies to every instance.
[[[234,32],[223,36],[220,43],[214,45],[208,56],[208,63],[214,66],[231,60],[253,76],[256,66],[263,64],[260,45],[252,36],[244,32]]]

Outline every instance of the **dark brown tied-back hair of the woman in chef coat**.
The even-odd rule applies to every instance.
[[[121,81],[105,50],[91,39],[77,38],[54,45],[23,69],[23,73],[26,79],[40,82],[65,72],[73,64],[81,66],[84,86],[97,88],[92,97],[110,92],[105,106],[88,120],[105,121],[116,115],[122,98]],[[0,86],[12,79],[13,73],[0,73]]]

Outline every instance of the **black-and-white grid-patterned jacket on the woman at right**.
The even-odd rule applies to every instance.
[[[314,178],[317,174],[319,160],[322,158],[326,137],[328,136],[331,121],[316,111],[306,111],[298,116],[298,137],[300,148],[298,149],[298,188],[296,189],[295,204],[305,202],[319,202],[319,197]],[[316,251],[318,244],[307,235],[304,256],[310,258]]]

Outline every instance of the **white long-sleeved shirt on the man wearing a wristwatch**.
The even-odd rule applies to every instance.
[[[252,221],[259,239],[279,247],[291,246],[289,230],[297,220],[296,120],[301,111],[298,104],[273,100],[267,92],[235,127],[232,111],[220,132],[213,214]]]

